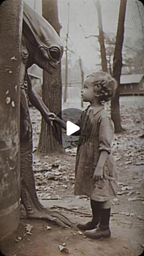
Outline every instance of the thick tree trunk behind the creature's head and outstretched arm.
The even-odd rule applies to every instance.
[[[58,21],[57,0],[42,0],[42,11],[43,17],[59,34],[61,25]],[[61,66],[52,75],[43,71],[42,99],[49,110],[56,114],[61,112],[61,94]],[[61,143],[61,128],[54,124],[53,130],[57,134],[57,140]],[[41,153],[64,152],[63,147],[57,140],[53,136],[51,126],[42,120],[38,151]]]

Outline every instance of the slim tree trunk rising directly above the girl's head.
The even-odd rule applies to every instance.
[[[101,64],[103,72],[108,72],[107,70],[107,58],[106,58],[106,50],[105,50],[105,42],[104,42],[104,35],[103,35],[103,24],[102,24],[102,16],[101,16],[101,4],[100,1],[96,1],[96,8],[98,14],[98,24],[99,24],[99,44],[101,50]]]

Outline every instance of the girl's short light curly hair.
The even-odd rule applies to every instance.
[[[106,72],[92,72],[87,76],[91,77],[94,85],[94,92],[97,92],[97,96],[99,96],[100,101],[109,101],[114,97],[117,82],[110,74]],[[99,90],[96,90],[99,88]]]

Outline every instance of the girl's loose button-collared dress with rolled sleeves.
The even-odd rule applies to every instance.
[[[92,124],[92,132],[89,138],[89,122],[85,122],[85,114],[89,116]],[[81,134],[77,148],[75,166],[75,195],[85,195],[95,201],[107,201],[116,197],[117,171],[111,152],[114,124],[104,106],[91,109],[86,108],[77,122]],[[88,134],[88,135],[87,135]],[[87,142],[85,142],[85,140]],[[85,143],[84,143],[85,142]],[[104,166],[104,174],[114,179],[103,179],[93,182],[93,173],[99,160],[101,150],[108,151],[108,157]]]

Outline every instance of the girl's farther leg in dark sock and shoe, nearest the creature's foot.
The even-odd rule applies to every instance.
[[[91,203],[93,218],[91,221],[85,224],[82,224],[82,223],[77,224],[77,227],[81,230],[91,230],[91,229],[97,228],[97,225],[99,224],[101,202],[90,199],[90,203]]]

